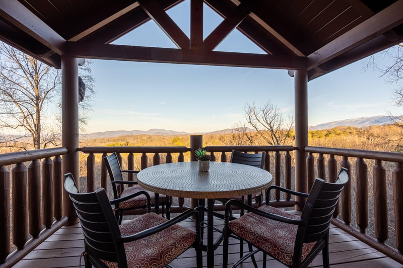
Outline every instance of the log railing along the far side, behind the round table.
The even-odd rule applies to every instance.
[[[122,165],[122,169],[136,169],[135,168],[135,155],[140,154],[141,163],[140,169],[144,169],[150,165],[157,165],[160,163],[171,163],[171,162],[182,162],[190,160],[190,155],[193,154],[191,148],[196,148],[191,144],[190,148],[185,146],[160,146],[160,147],[146,147],[146,146],[121,146],[121,147],[83,147],[79,148],[81,151],[87,155],[87,191],[94,191],[98,187],[104,189],[108,188],[108,173],[105,163],[102,158],[112,152],[116,152],[118,155],[119,162],[122,165],[123,156],[125,157],[126,165]],[[292,188],[292,158],[290,152],[295,149],[293,146],[206,146],[212,153],[212,161],[216,161],[217,155],[220,154],[220,161],[229,161],[227,153],[230,153],[232,149],[243,151],[243,152],[265,152],[266,162],[265,169],[271,171],[271,166],[274,166],[274,183],[276,185],[282,185],[284,187]],[[284,159],[282,159],[281,153],[284,152]],[[165,158],[162,155],[165,154]],[[273,156],[271,156],[273,154]],[[173,155],[177,155],[176,158]],[[152,157],[152,158],[151,158]],[[273,158],[273,160],[272,160]],[[101,161],[100,165],[100,182],[96,182],[96,160]],[[152,161],[150,161],[152,159]],[[284,167],[282,168],[282,161],[284,161]],[[99,172],[98,172],[99,173]],[[283,175],[282,175],[283,174]],[[134,180],[132,174],[128,174],[128,180]],[[176,203],[176,202],[175,202]],[[178,198],[177,205],[171,206],[172,213],[179,213],[189,208],[185,206],[185,200],[183,198]],[[194,203],[194,202],[193,202]],[[286,196],[281,200],[280,193],[276,193],[275,200],[273,201],[275,206],[293,206],[295,202],[291,200],[290,196]],[[221,204],[217,204],[216,210],[223,210],[224,207]],[[135,213],[143,213],[142,210],[137,210]]]

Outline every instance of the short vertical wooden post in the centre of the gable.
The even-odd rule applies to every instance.
[[[190,49],[203,49],[203,0],[190,0]]]

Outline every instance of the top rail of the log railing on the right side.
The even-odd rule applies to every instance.
[[[323,154],[349,156],[363,159],[377,159],[389,162],[403,162],[403,153],[397,153],[397,152],[382,152],[382,151],[314,147],[314,146],[305,147],[305,151],[310,153],[323,153]]]

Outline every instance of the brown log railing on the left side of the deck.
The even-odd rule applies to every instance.
[[[0,154],[0,266],[13,266],[68,221],[62,216],[60,157],[66,152],[52,148]],[[16,250],[10,254],[11,240]]]

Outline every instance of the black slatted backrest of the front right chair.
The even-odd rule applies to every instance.
[[[298,252],[302,248],[302,243],[326,239],[333,212],[348,181],[349,176],[346,168],[341,169],[334,183],[316,178],[301,214],[301,220],[307,221],[307,224],[298,228],[294,252]],[[298,254],[295,254],[294,257],[296,255]]]

